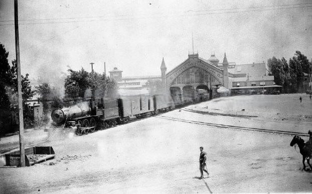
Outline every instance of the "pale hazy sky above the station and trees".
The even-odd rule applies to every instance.
[[[118,67],[123,76],[160,75],[163,57],[168,72],[192,53],[192,32],[194,50],[205,59],[215,53],[222,62],[226,52],[236,64],[288,60],[296,50],[312,57],[308,0],[20,0],[19,20],[22,74],[31,78],[53,79],[67,66],[91,71],[90,62],[99,73],[106,62],[107,72]],[[0,21],[0,42],[11,62],[13,0],[0,1]]]

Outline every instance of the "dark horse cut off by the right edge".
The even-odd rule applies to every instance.
[[[305,158],[306,158],[306,162],[307,164],[310,166],[310,170],[312,170],[312,166],[310,164],[310,158],[312,158],[312,142],[304,142],[303,139],[301,139],[298,135],[295,135],[291,142],[290,142],[290,146],[293,146],[294,144],[297,144],[299,149],[300,149],[300,153],[302,155],[302,163],[303,163],[303,169],[302,170],[305,170],[305,164],[304,164],[304,161],[305,161]]]

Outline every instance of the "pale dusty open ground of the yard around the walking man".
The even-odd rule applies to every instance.
[[[183,110],[174,110],[163,116],[227,124],[268,123],[261,126],[288,130],[311,129],[309,119],[299,118],[312,115],[312,102],[304,94],[301,104],[297,95],[290,96],[237,96],[188,107],[203,110],[208,106],[208,111],[219,109],[215,112],[231,114],[244,112],[258,115],[258,120],[200,115]],[[289,119],[282,120],[283,117]],[[289,146],[291,139],[290,135],[151,117],[88,135],[53,141],[49,145],[56,152],[55,159],[25,168],[0,168],[0,191],[312,192],[312,173],[301,171],[302,157],[296,152],[298,150]],[[200,146],[204,146],[208,153],[210,177],[205,179],[197,178],[200,176]]]

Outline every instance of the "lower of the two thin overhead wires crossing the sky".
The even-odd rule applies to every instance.
[[[204,14],[193,14],[189,16],[202,16],[202,15],[216,15],[216,14],[232,14],[232,13],[245,13],[245,12],[261,12],[270,10],[285,10],[285,9],[297,9],[297,8],[312,8],[312,6],[301,6],[301,7],[291,7],[291,8],[273,8],[273,9],[261,9],[261,10],[245,10],[245,11],[235,11],[235,12],[220,12],[220,13],[204,13]],[[241,8],[240,8],[241,9]],[[233,9],[227,9],[233,10]],[[216,10],[215,10],[216,11]],[[203,11],[204,12],[204,11]],[[170,15],[158,16],[158,17],[145,17],[145,18],[121,18],[121,19],[104,19],[104,20],[85,20],[85,21],[62,21],[62,22],[42,22],[42,23],[24,23],[19,25],[35,25],[35,24],[63,24],[63,23],[80,23],[80,22],[97,22],[97,21],[118,21],[118,20],[140,20],[140,19],[151,19],[151,18],[164,18]],[[187,16],[187,15],[171,15],[176,17]],[[113,16],[113,17],[123,17],[123,16]],[[92,17],[93,18],[93,17]],[[3,21],[5,22],[5,21]],[[9,22],[9,21],[8,21]],[[0,24],[0,26],[12,26],[14,24]]]

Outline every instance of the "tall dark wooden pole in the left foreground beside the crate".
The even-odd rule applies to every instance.
[[[14,23],[15,23],[15,50],[16,62],[18,66],[18,98],[19,98],[19,119],[20,119],[20,153],[21,153],[21,167],[25,167],[25,145],[24,145],[24,120],[23,120],[23,101],[22,101],[22,76],[20,63],[20,42],[19,42],[19,14],[18,14],[18,0],[14,0]]]

